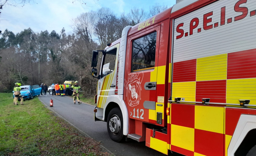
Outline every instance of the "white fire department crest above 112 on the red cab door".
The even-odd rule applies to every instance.
[[[141,99],[141,82],[143,79],[143,73],[132,73],[128,77],[128,81],[124,81],[125,96],[128,99],[130,106],[136,106]]]

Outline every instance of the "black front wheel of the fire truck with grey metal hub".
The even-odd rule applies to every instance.
[[[123,116],[120,108],[113,108],[108,115],[107,120],[108,133],[115,142],[121,142],[123,136]]]

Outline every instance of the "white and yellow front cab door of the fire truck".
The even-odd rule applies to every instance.
[[[104,108],[107,98],[115,95],[117,62],[120,43],[111,46],[107,52],[102,55],[100,79],[97,87],[97,107]]]

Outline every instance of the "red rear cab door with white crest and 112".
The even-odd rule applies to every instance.
[[[156,123],[160,26],[128,38],[124,101],[131,119]]]

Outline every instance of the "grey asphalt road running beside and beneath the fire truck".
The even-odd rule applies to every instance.
[[[86,103],[73,104],[70,96],[39,96],[40,101],[51,111],[66,120],[82,133],[100,141],[103,148],[116,156],[166,156],[156,150],[145,146],[145,142],[129,141],[116,143],[108,135],[107,123],[95,122],[93,119],[94,106]],[[53,107],[50,107],[50,99],[53,99]],[[170,152],[169,152],[170,153]],[[182,156],[174,153],[171,156]]]

